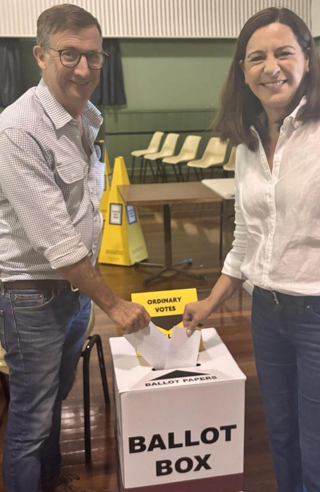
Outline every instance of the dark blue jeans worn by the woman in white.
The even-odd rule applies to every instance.
[[[276,297],[255,287],[252,336],[278,491],[319,492],[320,297]]]

